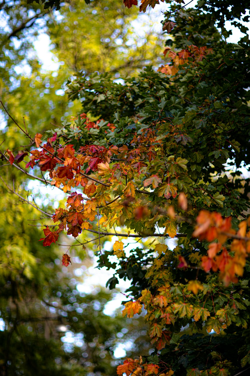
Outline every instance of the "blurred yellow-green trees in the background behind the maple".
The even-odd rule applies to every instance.
[[[119,0],[108,6],[96,0],[90,5],[84,0],[65,2],[53,14],[41,11],[39,3],[3,0],[0,98],[6,109],[20,123],[24,117],[28,132],[43,133],[81,108],[81,103],[74,104],[64,95],[67,80],[77,71],[111,71],[118,79],[137,75],[148,64],[158,65],[163,41],[136,16],[136,10],[124,8]],[[139,28],[140,33],[135,32]],[[36,41],[45,33],[51,41],[54,71],[39,61],[43,46],[37,47]],[[27,144],[3,108],[0,129],[4,149]],[[77,288],[93,264],[87,250],[78,251],[66,270],[60,265],[64,250],[44,249],[37,242],[42,231],[36,226],[44,223],[43,215],[18,201],[4,182],[13,181],[23,197],[36,194],[45,211],[51,204],[49,195],[45,197],[30,177],[24,179],[18,169],[4,164],[0,170],[0,373],[111,375],[116,374],[119,356],[148,355],[151,344],[142,318],[124,320],[119,311],[105,311],[116,290],[109,293],[93,286],[91,293],[85,293]],[[123,350],[114,356],[115,349]]]

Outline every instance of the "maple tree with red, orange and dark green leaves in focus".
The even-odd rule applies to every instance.
[[[82,232],[96,234],[99,267],[115,269],[108,285],[132,281],[123,315],[147,311],[155,352],[126,359],[118,374],[249,367],[249,178],[239,169],[249,165],[250,50],[247,36],[227,43],[223,28],[241,12],[241,2],[173,5],[159,72],[148,67],[124,85],[108,74],[79,76],[68,84],[69,99],[82,103],[71,123],[44,141],[24,129],[36,144],[26,168],[48,171],[67,193],[43,245],[63,230],[80,243]],[[10,164],[14,157],[3,155]],[[105,250],[112,235],[119,240]],[[143,241],[129,253],[128,238]]]

